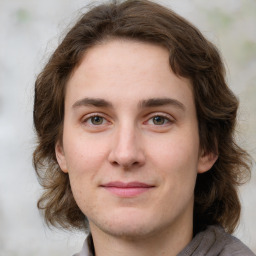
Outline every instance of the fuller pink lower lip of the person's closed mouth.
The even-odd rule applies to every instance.
[[[104,187],[106,190],[119,197],[135,197],[144,192],[149,191],[153,187],[131,187],[131,188],[120,188],[120,187]]]

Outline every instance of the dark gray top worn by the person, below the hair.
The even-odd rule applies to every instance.
[[[73,256],[93,256],[90,242],[85,241],[82,251]],[[209,226],[198,233],[177,256],[255,256],[236,237],[228,234],[220,226]]]

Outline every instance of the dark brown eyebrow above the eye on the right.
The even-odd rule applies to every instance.
[[[172,98],[152,98],[148,100],[143,100],[140,103],[141,108],[159,107],[159,106],[165,106],[165,105],[172,105],[183,111],[186,110],[183,103]]]

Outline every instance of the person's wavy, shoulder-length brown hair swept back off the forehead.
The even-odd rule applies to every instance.
[[[111,38],[165,47],[173,72],[190,79],[201,149],[218,155],[211,170],[197,177],[194,232],[220,224],[232,233],[241,209],[237,187],[250,174],[249,156],[234,137],[238,100],[225,82],[216,47],[187,20],[147,0],[112,1],[83,14],[37,77],[34,125],[38,144],[33,163],[44,188],[38,208],[46,222],[88,228],[87,218],[73,198],[69,176],[57,163],[55,144],[62,138],[65,87],[72,71],[88,49]]]

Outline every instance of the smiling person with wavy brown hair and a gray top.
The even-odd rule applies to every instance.
[[[148,0],[81,16],[35,82],[33,162],[76,255],[254,255],[232,236],[250,157],[216,47]]]

